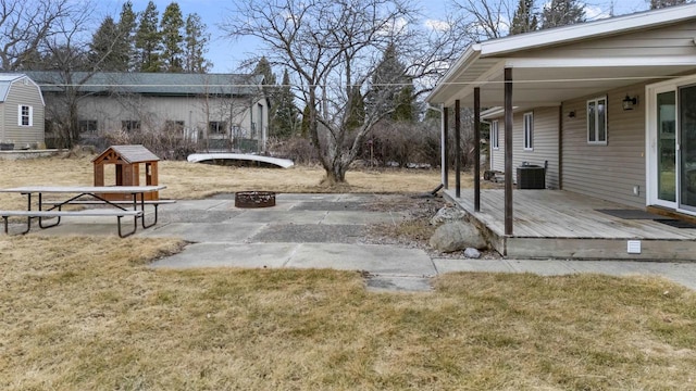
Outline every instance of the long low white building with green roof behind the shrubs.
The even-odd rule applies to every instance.
[[[263,151],[269,104],[261,75],[27,72],[47,100],[47,123],[66,88],[78,90],[80,136],[165,130],[204,149]],[[82,81],[85,80],[85,81]],[[64,109],[62,110],[64,111]]]

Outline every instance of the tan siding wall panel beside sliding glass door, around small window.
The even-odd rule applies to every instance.
[[[607,146],[587,143],[586,101],[563,102],[563,189],[621,204],[645,207],[645,104],[623,111],[627,94],[645,100],[644,85],[608,91]],[[575,112],[574,118],[567,113]],[[639,186],[641,194],[633,194]]]

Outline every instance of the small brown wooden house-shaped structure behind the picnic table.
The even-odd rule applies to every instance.
[[[95,164],[95,186],[150,186],[158,185],[157,165],[160,161],[154,153],[142,146],[111,146],[92,160]],[[114,175],[105,175],[105,166],[114,166]],[[105,184],[104,181],[114,182]],[[127,194],[101,194],[109,201],[128,199]],[[159,200],[158,192],[145,194],[146,200]]]

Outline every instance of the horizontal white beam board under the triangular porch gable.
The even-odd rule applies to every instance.
[[[696,55],[623,56],[623,58],[567,58],[567,59],[506,59],[512,68],[559,67],[630,67],[630,66],[688,66],[696,67]]]

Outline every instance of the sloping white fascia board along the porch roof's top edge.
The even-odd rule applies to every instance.
[[[498,55],[533,48],[583,39],[614,35],[631,30],[651,28],[696,18],[696,3],[669,7],[661,10],[638,12],[624,16],[579,23],[570,26],[549,28],[545,30],[520,34],[481,43],[481,55]]]

